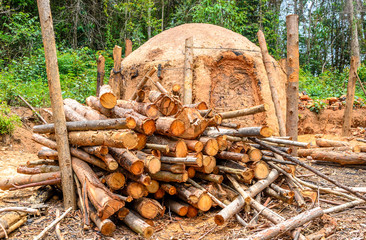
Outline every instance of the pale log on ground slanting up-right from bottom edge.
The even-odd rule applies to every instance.
[[[283,221],[273,227],[267,228],[254,235],[246,238],[239,238],[240,240],[267,240],[274,239],[276,236],[283,234],[287,231],[293,230],[297,227],[303,226],[305,223],[321,217],[324,214],[320,207],[313,208],[309,211],[303,212],[293,218]]]

